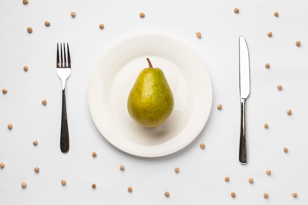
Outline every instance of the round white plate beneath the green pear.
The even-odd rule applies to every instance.
[[[163,70],[174,95],[174,110],[160,126],[138,125],[127,112],[127,97],[138,74]],[[157,34],[129,37],[108,50],[90,78],[92,119],[105,139],[126,153],[142,157],[172,154],[191,143],[206,124],[212,107],[212,84],[198,55],[183,42]]]

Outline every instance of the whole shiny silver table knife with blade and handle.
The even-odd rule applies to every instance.
[[[249,54],[246,40],[240,36],[240,95],[241,95],[241,136],[240,155],[242,164],[247,163],[247,136],[246,136],[246,99],[250,93]]]

